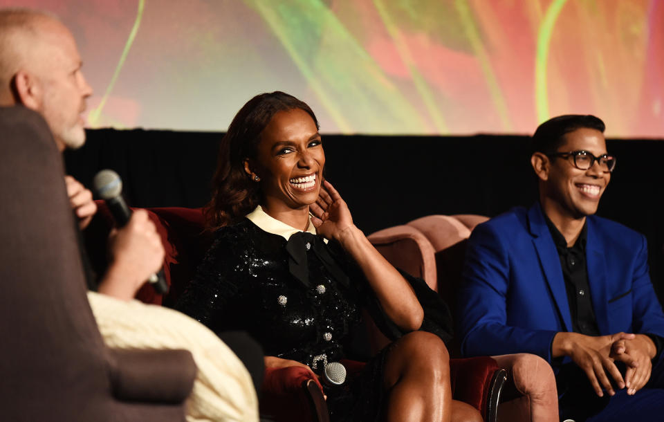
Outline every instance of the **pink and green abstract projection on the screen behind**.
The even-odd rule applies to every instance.
[[[20,4],[19,4],[20,3]],[[54,12],[92,127],[225,130],[264,91],[326,133],[530,134],[592,113],[664,138],[664,0],[0,0]]]

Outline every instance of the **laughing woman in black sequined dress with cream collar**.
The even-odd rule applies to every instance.
[[[481,420],[452,401],[448,307],[371,246],[324,165],[308,105],[282,92],[245,104],[213,180],[216,240],[178,309],[217,333],[248,331],[267,367],[320,375],[327,363],[364,356],[362,372],[326,387],[333,421]],[[356,341],[366,336],[362,309],[394,340],[371,358]]]

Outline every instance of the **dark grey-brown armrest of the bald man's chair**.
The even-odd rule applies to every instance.
[[[196,378],[187,350],[109,349],[113,396],[141,403],[183,403]]]

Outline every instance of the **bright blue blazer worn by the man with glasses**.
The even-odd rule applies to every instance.
[[[600,333],[664,337],[645,237],[600,217],[586,221],[588,281]],[[539,203],[477,226],[468,239],[463,279],[457,320],[465,356],[526,352],[551,363],[553,336],[572,331],[572,322],[560,258]]]

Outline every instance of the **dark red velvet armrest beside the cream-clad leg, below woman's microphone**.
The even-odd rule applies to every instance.
[[[260,411],[276,422],[329,422],[323,387],[305,367],[266,368]]]

